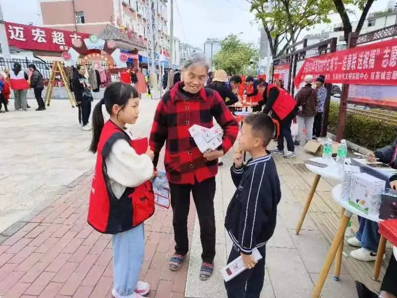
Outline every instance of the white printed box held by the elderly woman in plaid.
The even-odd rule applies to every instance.
[[[189,133],[203,154],[218,149],[223,142],[223,131],[219,125],[209,129],[195,124],[189,129]]]

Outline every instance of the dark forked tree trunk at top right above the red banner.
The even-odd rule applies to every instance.
[[[361,16],[358,20],[356,30],[354,31],[357,34],[360,34],[361,29],[363,28],[365,19],[367,18],[368,11],[371,8],[374,0],[333,0],[335,5],[336,11],[339,14],[342,24],[343,24],[343,31],[344,31],[344,40],[347,43],[347,39],[349,37],[349,33],[353,32],[353,26],[351,25],[350,18],[349,18],[349,10],[345,8],[345,5],[355,5],[360,8]]]

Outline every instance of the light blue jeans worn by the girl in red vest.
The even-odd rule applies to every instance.
[[[113,235],[114,289],[128,298],[135,291],[145,255],[143,224]]]

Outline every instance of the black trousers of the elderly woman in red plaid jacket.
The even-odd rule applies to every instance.
[[[190,193],[193,194],[200,224],[200,238],[203,262],[211,263],[215,257],[215,177],[194,185],[170,183],[171,207],[173,212],[175,253],[186,255],[189,251],[188,215]]]

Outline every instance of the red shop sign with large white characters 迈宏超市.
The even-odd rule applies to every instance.
[[[89,34],[5,22],[8,44],[19,49],[64,52]]]

